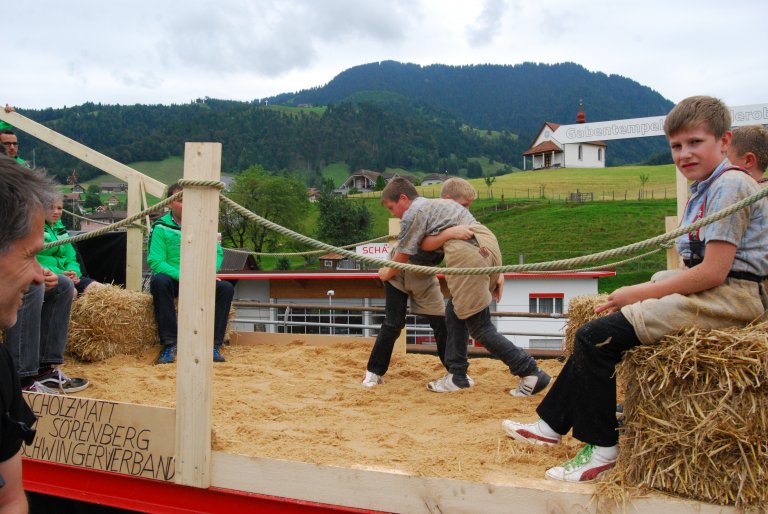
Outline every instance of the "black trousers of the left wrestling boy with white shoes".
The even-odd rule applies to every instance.
[[[368,371],[377,375],[384,375],[389,369],[389,361],[392,359],[392,349],[395,347],[395,341],[400,337],[405,327],[405,315],[408,308],[408,293],[400,291],[398,288],[384,283],[384,322],[381,324],[379,334],[376,336],[376,342],[371,349],[371,356],[368,358]],[[444,316],[426,316],[429,326],[435,333],[437,342],[437,354],[440,362],[445,362],[445,340],[447,338]]]

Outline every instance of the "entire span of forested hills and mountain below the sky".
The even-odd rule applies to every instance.
[[[570,63],[422,67],[389,61],[268,102],[206,98],[20,112],[121,162],[179,156],[185,141],[218,141],[226,172],[258,164],[319,185],[319,170],[340,161],[351,170],[455,172],[468,157],[485,156],[520,166],[541,123],[572,123],[579,99],[588,121],[658,115],[672,106],[629,79]],[[34,138],[20,139],[23,156],[34,151],[36,162],[60,177],[72,169],[81,180],[95,173]],[[608,163],[641,162],[664,151],[658,138],[612,141]]]

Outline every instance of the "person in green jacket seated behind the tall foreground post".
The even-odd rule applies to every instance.
[[[180,184],[168,187],[168,197],[182,190]],[[181,211],[182,199],[171,203],[170,211],[152,225],[149,235],[147,262],[152,269],[149,291],[155,308],[157,330],[163,349],[155,364],[172,364],[176,361],[177,322],[174,299],[179,296],[179,265],[181,263]],[[224,250],[216,245],[216,271],[221,268]],[[229,282],[216,279],[216,312],[213,329],[213,361],[224,362],[221,345],[227,329],[227,317],[232,305],[235,288]]]

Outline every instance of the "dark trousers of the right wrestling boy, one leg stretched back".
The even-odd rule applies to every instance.
[[[445,367],[454,375],[465,375],[469,368],[467,341],[469,336],[482,344],[491,354],[509,367],[510,373],[520,377],[532,375],[537,368],[536,360],[522,348],[501,335],[491,322],[491,310],[486,307],[465,320],[460,320],[448,300],[445,307],[445,324],[448,343],[445,350]]]

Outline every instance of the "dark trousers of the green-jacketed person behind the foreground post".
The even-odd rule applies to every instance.
[[[173,300],[179,296],[179,283],[168,275],[157,273],[149,283],[152,293],[152,303],[155,308],[155,320],[161,344],[175,344],[177,338],[176,308]],[[232,297],[235,296],[234,286],[226,280],[216,281],[216,309],[214,311],[213,343],[224,342],[227,331],[229,309]]]

